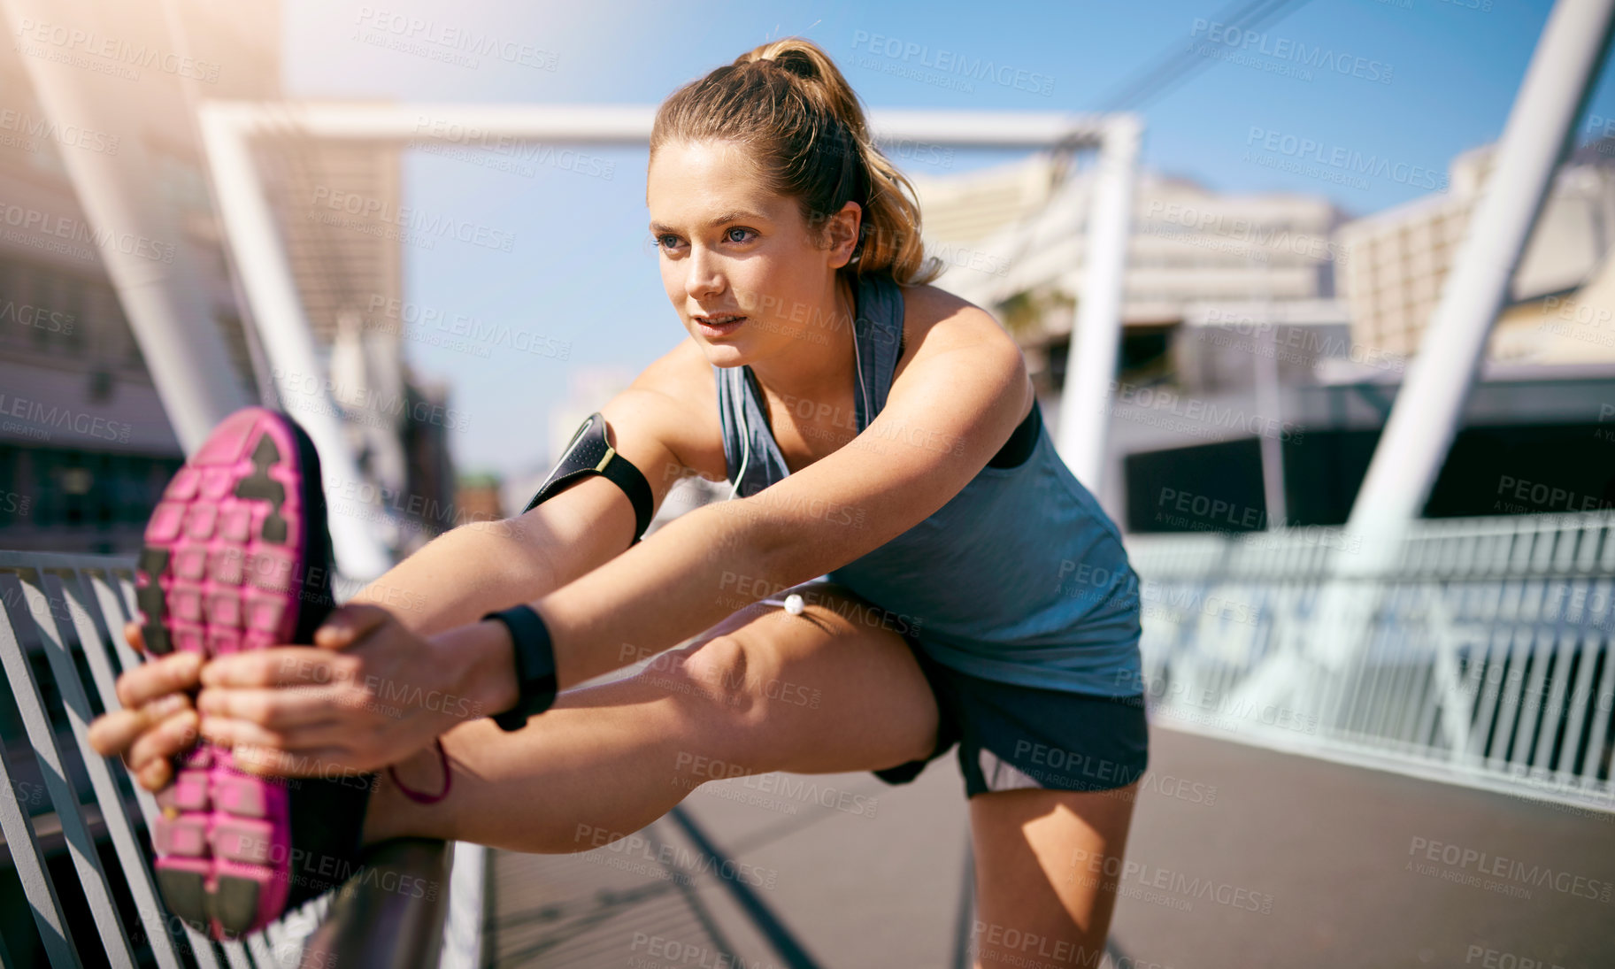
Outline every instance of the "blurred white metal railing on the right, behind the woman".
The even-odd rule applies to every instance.
[[[1615,811],[1615,514],[1135,535],[1155,722]]]

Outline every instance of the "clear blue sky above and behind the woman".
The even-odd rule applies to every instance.
[[[1206,68],[1142,108],[1145,165],[1223,192],[1323,194],[1361,215],[1428,189],[1416,178],[1342,186],[1279,171],[1252,163],[1250,142],[1277,132],[1311,139],[1324,153],[1344,149],[1384,157],[1400,171],[1441,176],[1452,155],[1502,132],[1550,5],[1311,0],[1242,47],[1229,45],[1214,24],[1227,6],[1218,0],[898,0],[874,8],[853,0],[287,0],[283,71],[289,97],[656,103],[764,40],[799,34],[820,44],[875,108],[1085,111],[1103,107],[1166,50],[1193,47],[1229,57],[1193,53]],[[384,45],[407,23],[397,18],[417,23],[412,48]],[[449,50],[423,39],[451,31],[514,40],[528,63],[436,60]],[[1357,66],[1360,76],[1274,69],[1305,69],[1289,58],[1316,48]],[[951,60],[1021,71],[1027,82],[942,84],[943,69],[924,65],[937,65],[943,50]],[[895,73],[900,68],[925,79]],[[1589,137],[1592,116],[1615,116],[1610,69],[1578,124],[1578,141]],[[405,203],[486,226],[494,239],[510,237],[509,252],[452,239],[405,247],[412,304],[444,318],[475,318],[484,333],[509,326],[515,334],[505,346],[480,344],[480,352],[433,346],[433,338],[454,334],[430,328],[407,342],[410,363],[447,380],[451,404],[465,415],[464,428],[451,433],[462,470],[520,475],[546,465],[549,407],[565,396],[573,371],[598,365],[638,371],[685,339],[648,242],[644,152],[583,150],[591,158],[572,168],[557,165],[557,155],[517,160],[526,166],[518,171],[488,166],[496,160],[488,155],[476,163],[415,152],[405,163]],[[1003,158],[959,152],[948,171]],[[946,174],[925,163],[912,170]]]

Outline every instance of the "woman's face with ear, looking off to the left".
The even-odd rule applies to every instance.
[[[740,145],[707,141],[657,149],[646,205],[667,299],[717,367],[828,346],[845,329],[835,270],[858,241],[856,202],[814,233],[796,199],[761,186]]]

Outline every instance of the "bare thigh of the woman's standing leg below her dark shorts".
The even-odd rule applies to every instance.
[[[1137,793],[1134,782],[971,798],[977,967],[1100,964]]]

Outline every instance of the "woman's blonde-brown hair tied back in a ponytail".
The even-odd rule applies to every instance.
[[[875,147],[851,84],[812,40],[770,40],[675,90],[656,111],[651,157],[667,142],[707,139],[746,145],[769,187],[798,199],[812,226],[858,202],[849,271],[904,286],[942,275],[921,242],[914,186]]]

